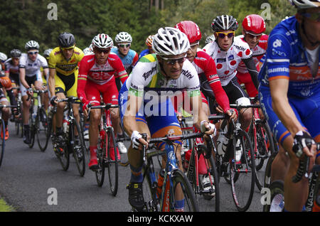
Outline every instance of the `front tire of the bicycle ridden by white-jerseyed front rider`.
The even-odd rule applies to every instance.
[[[173,186],[170,192],[170,205],[171,210],[174,210],[174,203],[176,203],[176,192],[182,191],[183,193],[183,212],[199,212],[196,195],[193,192],[192,185],[186,175],[180,170],[176,169],[171,174]],[[177,190],[178,189],[178,190]]]

